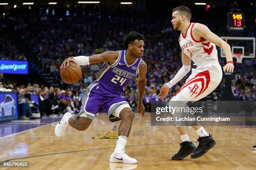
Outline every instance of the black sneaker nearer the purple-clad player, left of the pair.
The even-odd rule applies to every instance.
[[[179,144],[180,150],[178,153],[173,155],[172,160],[182,160],[183,158],[190,155],[196,149],[195,145],[192,142],[182,142]]]

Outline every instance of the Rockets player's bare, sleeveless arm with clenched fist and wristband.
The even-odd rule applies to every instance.
[[[192,29],[192,34],[193,34],[193,37],[195,37],[197,40],[200,40],[200,37],[203,37],[206,40],[221,47],[227,59],[227,64],[223,67],[223,71],[233,72],[234,70],[233,57],[232,57],[232,52],[230,50],[230,45],[228,45],[227,42],[225,42],[216,34],[211,32],[207,26],[200,23],[194,24]]]

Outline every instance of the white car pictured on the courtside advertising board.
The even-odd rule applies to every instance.
[[[6,95],[5,100],[0,103],[0,116],[3,119],[6,116],[14,116],[16,112],[16,103],[11,95]]]

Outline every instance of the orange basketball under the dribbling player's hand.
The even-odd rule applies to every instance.
[[[82,77],[81,67],[74,62],[69,62],[69,67],[61,68],[59,73],[61,79],[68,84],[74,84]]]

